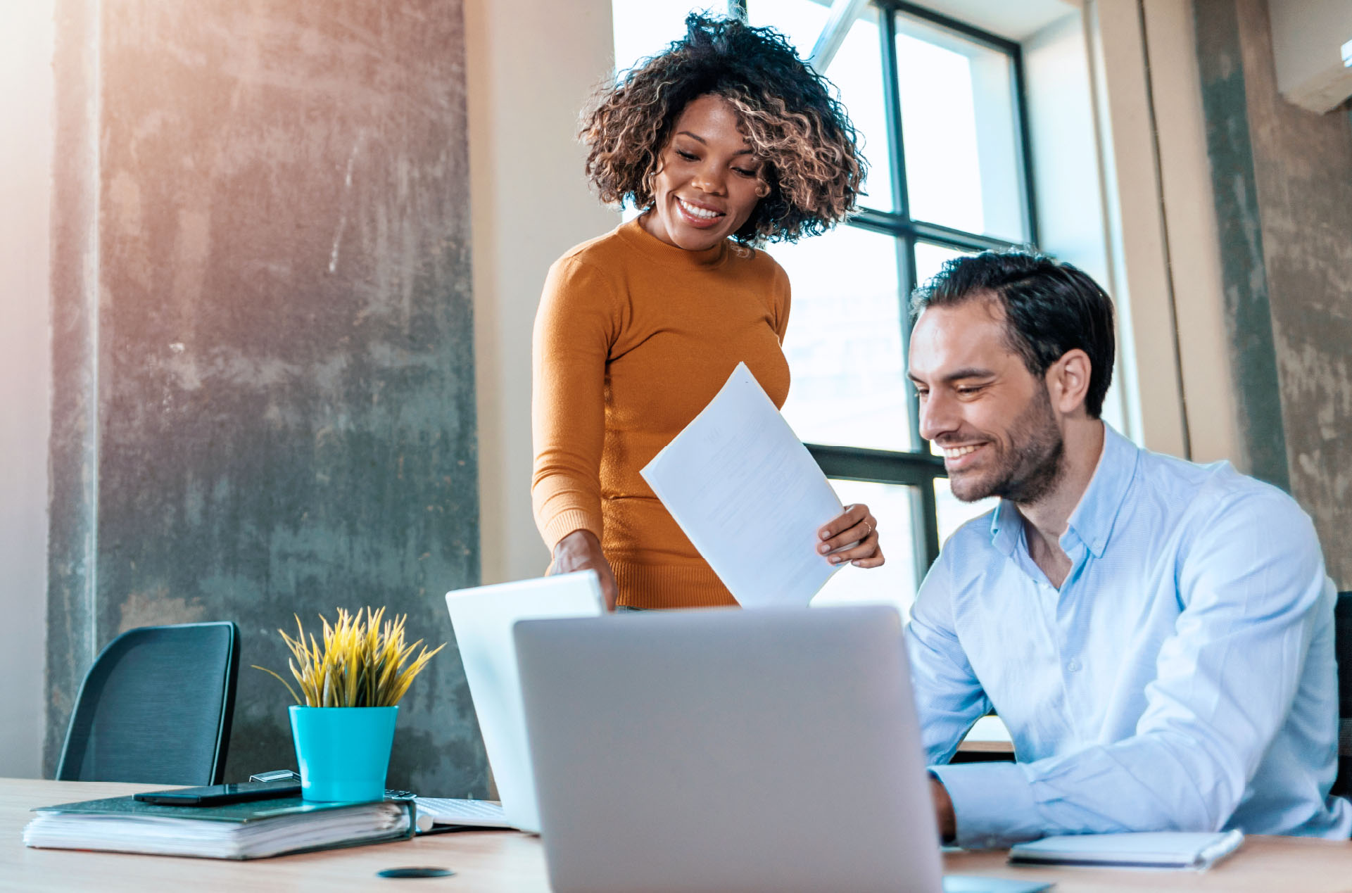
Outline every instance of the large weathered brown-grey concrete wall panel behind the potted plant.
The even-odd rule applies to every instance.
[[[242,632],[227,778],[292,761],[277,627],[479,581],[460,3],[68,0],[46,765],[130,627]],[[483,794],[454,648],[391,784]]]

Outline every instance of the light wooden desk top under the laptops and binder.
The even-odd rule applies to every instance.
[[[545,855],[539,839],[502,831],[439,834],[354,850],[227,862],[119,852],[30,850],[20,839],[28,811],[39,805],[115,797],[151,785],[0,780],[0,889],[4,890],[384,890],[380,869],[437,865],[453,877],[408,882],[429,893],[544,893]],[[1225,890],[1226,893],[1347,893],[1352,890],[1352,844],[1295,838],[1251,838],[1244,848],[1206,874],[1192,871],[1107,871],[1094,869],[1011,869],[1005,852],[945,854],[953,874],[1055,881],[1053,893]],[[388,882],[393,884],[393,882]],[[403,886],[391,886],[403,890]]]

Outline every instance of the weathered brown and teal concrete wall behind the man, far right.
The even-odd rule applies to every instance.
[[[1352,122],[1278,93],[1264,0],[1194,0],[1241,434],[1352,588]]]

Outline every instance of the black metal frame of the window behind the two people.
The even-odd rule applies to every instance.
[[[735,1],[735,0],[734,0]],[[1032,145],[1028,126],[1028,92],[1023,78],[1022,47],[1014,41],[1005,39],[988,31],[976,28],[965,22],[952,19],[946,15],[918,7],[903,0],[872,0],[869,3],[876,11],[879,20],[879,39],[882,42],[883,61],[883,101],[887,105],[887,135],[891,143],[891,157],[887,159],[892,174],[892,208],[894,211],[877,211],[865,208],[850,218],[845,226],[856,226],[871,232],[891,235],[896,240],[896,261],[900,272],[902,292],[898,300],[902,303],[902,355],[910,354],[910,313],[907,304],[911,292],[915,290],[915,243],[933,242],[959,251],[986,251],[1005,250],[1014,247],[1030,247],[1037,245],[1037,212],[1033,190]],[[745,9],[745,7],[744,7]],[[744,12],[745,15],[745,12]],[[984,234],[967,232],[952,227],[917,220],[910,215],[910,201],[907,196],[906,180],[906,153],[902,139],[902,101],[898,80],[896,63],[896,19],[907,15],[927,24],[952,31],[975,43],[987,46],[1003,53],[1010,58],[1013,103],[1015,116],[1018,151],[1018,168],[1022,173],[1022,200],[1023,200],[1023,232],[1026,242],[1009,242]],[[876,162],[875,162],[876,163]],[[875,450],[849,446],[827,446],[821,443],[807,443],[807,450],[821,466],[826,477],[846,481],[867,481],[873,484],[899,484],[915,488],[919,499],[911,499],[911,532],[915,551],[917,586],[923,580],[930,565],[938,558],[938,504],[934,497],[934,481],[948,477],[944,470],[944,459],[930,453],[929,442],[919,432],[918,403],[906,400],[907,422],[911,431],[911,442],[917,444],[913,451]],[[918,535],[917,535],[918,534]]]

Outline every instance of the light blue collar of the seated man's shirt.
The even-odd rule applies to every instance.
[[[1061,548],[1075,539],[1084,543],[1095,558],[1103,557],[1107,540],[1113,535],[1113,524],[1122,509],[1126,490],[1136,478],[1136,465],[1141,450],[1103,423],[1103,453],[1090,485],[1084,488],[1079,505],[1071,512],[1067,531],[1061,536]],[[1005,555],[1013,555],[1023,530],[1023,519],[1018,508],[1009,500],[1000,500],[991,513],[991,546]],[[1071,542],[1067,542],[1067,540]]]

